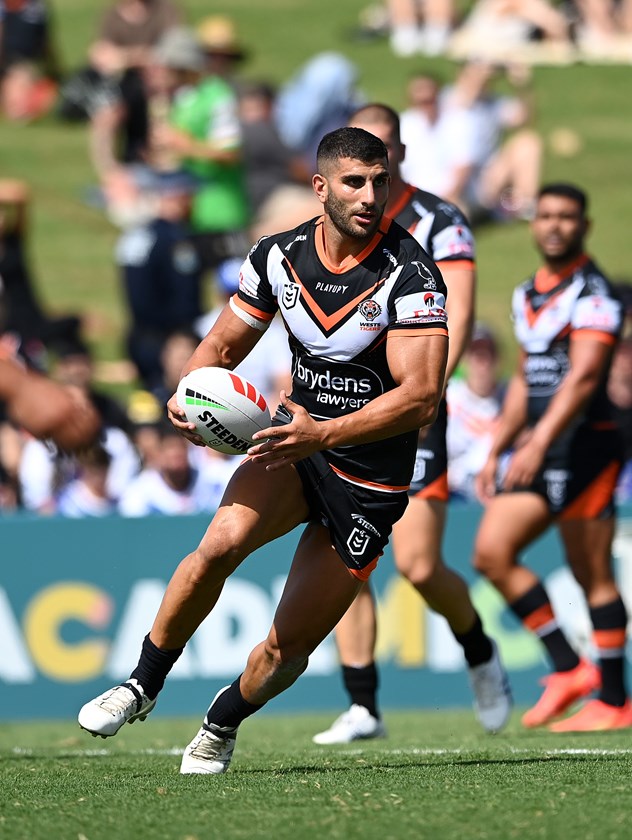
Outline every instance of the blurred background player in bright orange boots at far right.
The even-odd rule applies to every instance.
[[[585,253],[586,210],[586,195],[571,184],[540,190],[532,231],[543,265],[514,292],[519,364],[478,476],[487,508],[475,565],[538,635],[553,666],[522,722],[550,723],[555,732],[632,726],[624,680],[627,614],[611,566],[623,442],[606,393],[622,307]],[[512,445],[499,479],[499,458]],[[599,667],[571,647],[542,583],[519,562],[521,551],[553,524],[588,601]],[[551,723],[593,691],[597,697],[579,712]]]

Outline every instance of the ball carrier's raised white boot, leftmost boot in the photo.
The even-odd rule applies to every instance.
[[[138,680],[128,680],[109,691],[99,694],[81,707],[79,726],[96,738],[109,738],[116,735],[124,723],[145,720],[156,705],[145,694]]]

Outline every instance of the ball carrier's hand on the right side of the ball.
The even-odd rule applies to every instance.
[[[292,415],[286,426],[271,426],[253,435],[260,440],[251,446],[248,455],[255,463],[264,464],[267,470],[278,470],[307,458],[322,445],[322,424],[314,420],[305,409],[288,399],[281,391],[281,405]]]

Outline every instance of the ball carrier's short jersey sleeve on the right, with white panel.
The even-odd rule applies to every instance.
[[[432,261],[427,257],[412,260],[403,267],[391,293],[389,329],[433,329],[447,335],[446,296],[441,272]]]

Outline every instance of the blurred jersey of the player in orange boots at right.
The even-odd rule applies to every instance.
[[[572,340],[597,338],[615,344],[622,326],[622,306],[603,272],[585,254],[562,274],[540,269],[515,289],[514,331],[525,353],[528,422],[537,423],[568,373]],[[606,377],[580,423],[601,426],[611,420]]]

